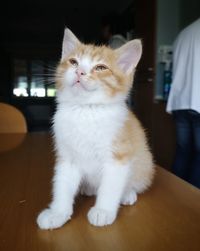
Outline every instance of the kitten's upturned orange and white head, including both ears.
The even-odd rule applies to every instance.
[[[140,40],[119,49],[85,45],[65,30],[57,68],[58,102],[106,104],[124,101],[142,54]]]

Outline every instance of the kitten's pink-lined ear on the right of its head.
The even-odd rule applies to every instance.
[[[137,66],[142,55],[142,43],[139,39],[131,40],[115,50],[118,54],[117,63],[120,69],[130,74]]]

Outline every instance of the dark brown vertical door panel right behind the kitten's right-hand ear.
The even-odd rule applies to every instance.
[[[156,1],[135,1],[135,31],[142,39],[143,54],[138,65],[134,88],[134,110],[147,130],[150,143],[153,139],[153,96],[155,81],[155,47],[156,47]]]

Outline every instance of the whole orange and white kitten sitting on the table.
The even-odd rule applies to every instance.
[[[53,198],[38,216],[40,228],[70,220],[79,192],[96,195],[87,215],[92,225],[112,224],[120,204],[134,204],[151,185],[152,155],[125,103],[141,54],[140,40],[112,50],[85,45],[65,30],[56,74]]]

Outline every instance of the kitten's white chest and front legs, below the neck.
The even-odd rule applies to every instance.
[[[97,194],[96,205],[88,214],[90,223],[103,226],[114,221],[130,169],[113,160],[112,144],[126,117],[123,104],[58,105],[53,200],[49,210],[38,217],[40,228],[56,228],[71,218],[81,186],[90,187],[88,194]]]

